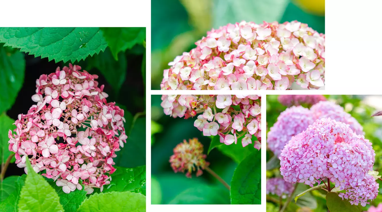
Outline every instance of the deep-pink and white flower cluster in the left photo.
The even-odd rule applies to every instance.
[[[81,179],[89,194],[110,183],[115,152],[127,136],[124,111],[106,101],[97,75],[79,70],[70,64],[36,80],[36,105],[18,116],[9,150],[18,167],[29,159],[34,171],[57,180],[65,193],[82,189]]]

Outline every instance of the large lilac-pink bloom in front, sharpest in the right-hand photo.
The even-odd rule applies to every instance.
[[[379,184],[368,172],[374,165],[371,142],[348,124],[322,118],[291,138],[280,156],[280,172],[287,182],[313,186],[330,179],[345,190],[338,196],[366,206],[375,199]]]

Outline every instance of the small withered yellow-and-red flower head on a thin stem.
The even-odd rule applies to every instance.
[[[207,155],[203,154],[203,145],[197,138],[183,140],[174,148],[174,154],[170,156],[170,164],[174,172],[187,172],[186,176],[191,178],[191,173],[196,171],[196,177],[203,174],[204,169],[209,166],[206,161]]]

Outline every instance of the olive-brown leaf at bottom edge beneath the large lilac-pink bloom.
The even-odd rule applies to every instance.
[[[342,199],[335,192],[326,194],[326,205],[331,212],[360,212],[362,210],[361,205],[352,205],[347,199]]]

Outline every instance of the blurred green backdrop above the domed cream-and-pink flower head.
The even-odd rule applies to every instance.
[[[322,1],[322,0],[316,0]],[[207,31],[240,21],[298,20],[325,33],[325,17],[301,9],[301,0],[157,0],[151,3],[151,84],[160,89],[168,62],[190,51]],[[299,6],[296,6],[299,3]]]

